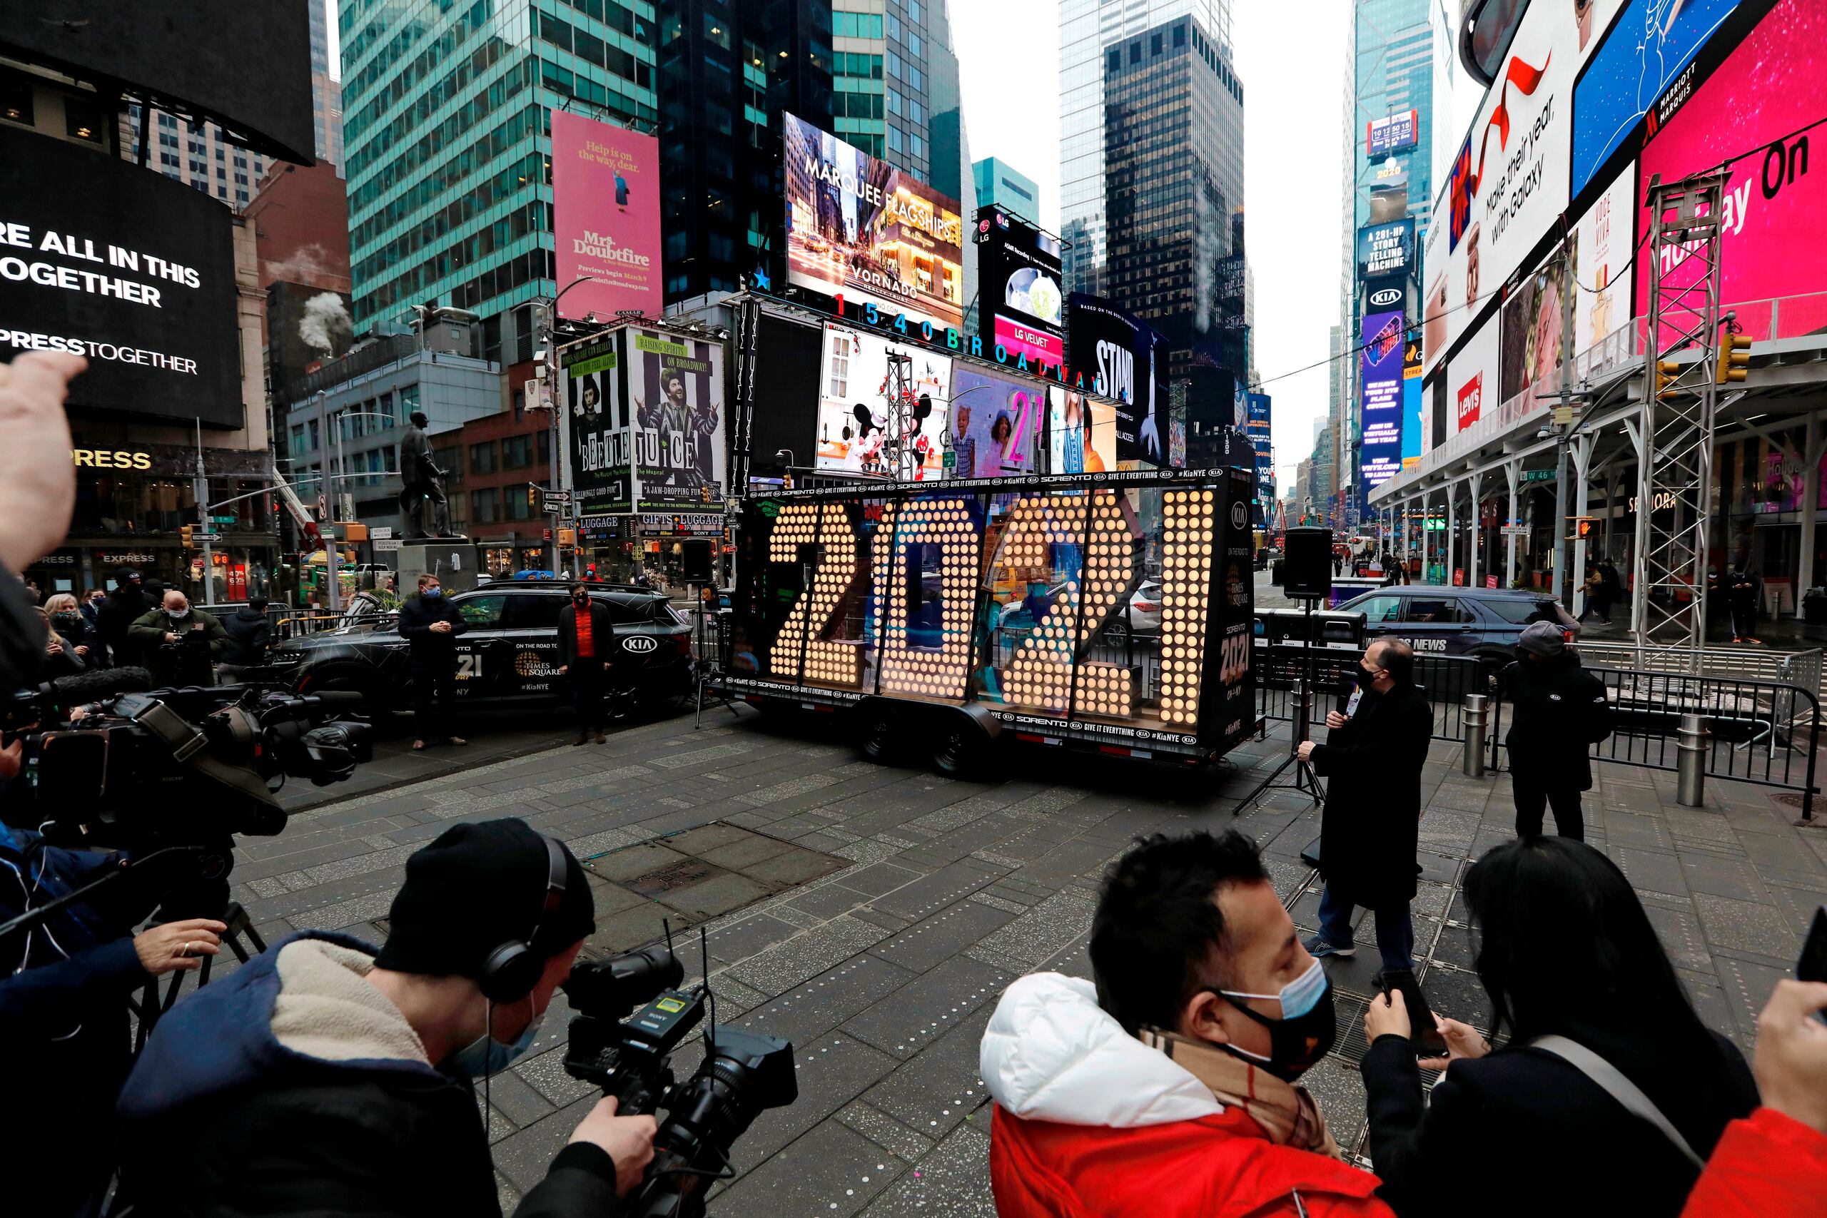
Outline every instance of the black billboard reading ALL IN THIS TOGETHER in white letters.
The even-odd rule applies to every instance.
[[[0,199],[0,360],[73,351],[90,371],[71,405],[241,425],[228,208],[9,124]]]

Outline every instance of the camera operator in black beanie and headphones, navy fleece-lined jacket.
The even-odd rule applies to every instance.
[[[471,1079],[532,1046],[596,929],[588,878],[521,820],[453,825],[389,929],[378,953],[301,931],[159,1021],[121,1094],[135,1214],[501,1213]],[[603,1099],[517,1214],[614,1214],[654,1129]]]

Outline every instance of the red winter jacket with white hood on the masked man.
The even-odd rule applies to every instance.
[[[1372,1196],[1376,1176],[1273,1145],[1125,1034],[1089,981],[1034,973],[1009,986],[981,1066],[1001,1218],[1392,1218]]]

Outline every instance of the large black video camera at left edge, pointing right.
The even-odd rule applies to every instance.
[[[144,668],[110,668],[13,694],[0,729],[26,756],[5,818],[53,845],[227,849],[236,833],[285,829],[272,796],[287,776],[325,787],[373,756],[367,723],[331,718],[360,694],[150,683]]]

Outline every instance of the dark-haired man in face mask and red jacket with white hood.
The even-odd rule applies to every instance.
[[[1389,1218],[1297,1083],[1337,1035],[1332,990],[1248,838],[1136,844],[1091,968],[1016,981],[983,1035],[1001,1218]]]

